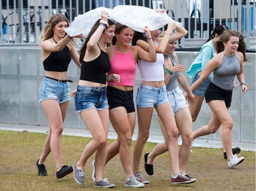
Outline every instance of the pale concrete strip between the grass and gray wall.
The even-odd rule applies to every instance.
[[[0,130],[6,131],[29,131],[34,133],[46,133],[48,126],[33,126],[33,125],[20,125],[20,124],[0,124]],[[81,128],[64,128],[63,135],[72,135],[78,137],[91,137],[91,134],[87,129]],[[136,140],[137,134],[134,133],[132,140]],[[117,134],[115,131],[109,131],[109,139],[116,139]],[[148,142],[160,143],[164,139],[160,135],[150,135]],[[179,139],[179,143],[181,143]],[[222,148],[221,141],[207,140],[207,139],[196,139],[193,143],[193,147],[210,147],[210,148]],[[241,143],[233,142],[233,147],[240,147],[241,150],[255,152],[255,143]]]

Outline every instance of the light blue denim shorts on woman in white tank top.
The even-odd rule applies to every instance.
[[[141,84],[137,91],[137,107],[157,107],[168,103],[167,90],[165,86],[154,88]]]

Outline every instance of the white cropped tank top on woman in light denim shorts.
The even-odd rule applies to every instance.
[[[145,60],[138,60],[141,79],[147,82],[165,80],[165,71],[163,70],[164,62],[164,55],[159,53],[156,54],[156,62],[154,63],[150,63]]]

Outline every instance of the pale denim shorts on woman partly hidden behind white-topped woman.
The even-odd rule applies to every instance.
[[[175,114],[180,109],[188,107],[188,103],[186,102],[183,92],[179,87],[167,91],[167,96],[169,103],[171,104],[171,108],[173,109],[173,114]]]

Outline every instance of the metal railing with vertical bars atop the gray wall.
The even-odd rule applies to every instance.
[[[199,47],[208,39],[214,27],[225,24],[243,33],[247,50],[255,50],[256,0],[1,0],[0,44],[34,44],[42,27],[59,12],[72,22],[74,17],[96,7],[141,5],[163,8],[176,21],[183,23],[188,35],[180,47]],[[194,2],[194,3],[189,3]]]

